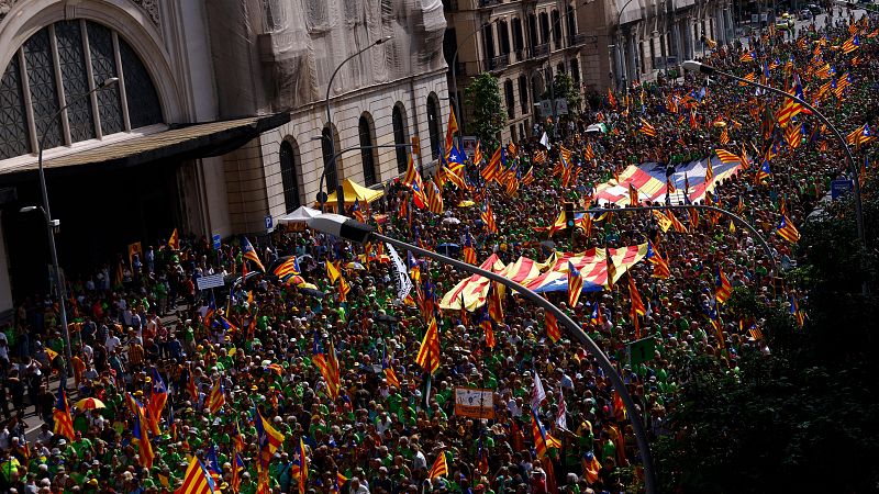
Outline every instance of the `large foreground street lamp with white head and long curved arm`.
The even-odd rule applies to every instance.
[[[568,329],[578,339],[578,341],[598,359],[601,370],[604,371],[604,374],[611,380],[614,390],[622,397],[625,411],[632,420],[632,428],[634,429],[635,438],[638,445],[638,452],[641,453],[641,461],[644,468],[645,491],[648,494],[656,493],[656,473],[654,471],[649,442],[647,441],[647,434],[644,429],[644,423],[642,422],[641,413],[635,407],[635,402],[628,394],[628,390],[626,389],[623,379],[620,377],[620,373],[613,367],[608,356],[566,313],[553,305],[548,300],[508,278],[496,274],[491,271],[487,271],[479,267],[468,265],[467,262],[463,262],[431,250],[422,249],[418,246],[407,244],[396,238],[387,237],[375,232],[371,226],[356,222],[346,216],[338,214],[321,214],[309,220],[309,227],[318,232],[334,235],[345,240],[355,242],[358,244],[364,244],[367,240],[379,240],[390,244],[399,249],[410,250],[419,256],[434,259],[443,265],[452,266],[460,269],[461,271],[478,274],[497,283],[501,283],[534,302],[545,311],[552,313],[556,319],[561,323],[565,328]]]

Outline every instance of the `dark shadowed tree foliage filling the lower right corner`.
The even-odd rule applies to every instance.
[[[868,245],[877,245],[879,201],[868,182]],[[786,282],[808,289],[809,319],[737,289],[728,310],[766,319],[770,356],[752,350],[732,371],[716,360],[689,369],[672,434],[655,445],[665,492],[877,492],[879,464],[879,301],[861,295],[877,280],[877,251],[857,240],[852,198],[824,205],[801,225],[806,261]]]

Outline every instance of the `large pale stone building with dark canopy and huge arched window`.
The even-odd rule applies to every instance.
[[[448,105],[441,0],[0,0],[0,311],[46,272],[38,143],[62,265],[187,234],[264,233],[312,205],[336,150],[408,144],[435,161]],[[354,56],[377,40],[380,45]],[[119,83],[86,98],[109,77]],[[69,106],[53,115],[62,109]],[[322,137],[325,136],[325,137]],[[438,142],[438,141],[437,141]],[[380,187],[405,149],[354,149],[338,175]],[[332,186],[332,183],[331,183]],[[0,268],[2,268],[0,263]]]

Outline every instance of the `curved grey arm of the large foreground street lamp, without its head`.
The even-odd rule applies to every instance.
[[[608,378],[610,378],[614,390],[617,393],[620,393],[620,396],[623,398],[623,405],[625,406],[625,411],[628,414],[630,419],[632,420],[632,428],[634,429],[635,438],[638,445],[638,452],[641,453],[641,462],[642,465],[644,467],[644,487],[648,494],[656,493],[656,472],[654,471],[653,458],[650,456],[650,446],[649,442],[647,441],[647,433],[644,429],[644,423],[642,422],[641,413],[637,411],[637,408],[635,408],[635,402],[628,394],[628,390],[626,390],[623,379],[620,377],[620,373],[613,367],[608,356],[601,350],[601,348],[599,348],[599,346],[592,340],[592,338],[590,338],[589,335],[587,335],[580,328],[580,326],[577,325],[577,323],[575,323],[560,308],[553,305],[548,300],[528,290],[527,288],[516,283],[513,280],[504,278],[500,274],[496,274],[491,271],[486,271],[485,269],[480,269],[477,266],[471,266],[468,265],[467,262],[459,261],[457,259],[453,259],[450,257],[446,257],[441,254],[431,250],[425,250],[411,244],[407,244],[396,238],[381,235],[377,232],[371,232],[370,236],[375,239],[386,242],[399,249],[411,250],[412,252],[418,254],[419,256],[429,257],[441,263],[460,269],[461,271],[466,271],[471,274],[478,274],[480,277],[488,278],[489,280],[494,281],[497,283],[501,283],[504,287],[508,287],[511,290],[514,290],[518,293],[522,294],[525,299],[528,299],[538,306],[543,307],[544,311],[548,311],[549,313],[552,313],[556,317],[556,319],[559,323],[561,323],[565,326],[565,328],[568,329],[577,338],[577,340],[581,345],[587,347],[589,352],[591,352],[598,359],[599,366],[601,366],[601,369],[604,371],[604,374]]]

